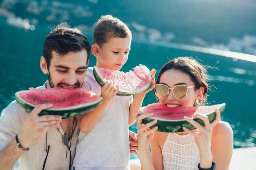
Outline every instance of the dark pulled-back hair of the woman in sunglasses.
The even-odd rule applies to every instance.
[[[199,89],[200,87],[204,88],[204,94],[202,98],[198,101],[195,101],[194,106],[201,106],[207,102],[207,91],[208,91],[208,77],[207,77],[207,70],[204,65],[201,65],[198,61],[193,59],[192,57],[178,57],[175,59],[170,60],[161,68],[156,84],[160,83],[161,75],[170,69],[180,70],[183,73],[188,74],[192,81],[195,83],[195,88]],[[155,95],[155,93],[154,93]],[[157,97],[157,96],[156,96]]]

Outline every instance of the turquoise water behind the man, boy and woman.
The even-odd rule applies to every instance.
[[[39,67],[43,44],[50,29],[25,31],[2,24],[0,31],[0,111],[14,100],[16,91],[41,86],[46,80]],[[6,35],[6,33],[9,33]],[[90,38],[91,34],[87,35]],[[256,146],[256,112],[253,110],[256,96],[256,63],[184,50],[173,45],[132,42],[128,62],[122,71],[143,64],[155,68],[157,74],[164,63],[174,57],[192,56],[200,59],[209,69],[212,91],[208,93],[210,105],[225,102],[226,110],[221,119],[230,123],[234,131],[234,148]],[[253,56],[252,56],[253,57]],[[255,57],[256,59],[256,57]],[[91,56],[89,66],[96,63]],[[143,105],[156,102],[152,92],[145,97]],[[130,127],[136,132],[135,125]],[[131,156],[136,158],[137,156]]]

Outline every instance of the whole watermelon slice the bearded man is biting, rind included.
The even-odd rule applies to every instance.
[[[26,113],[30,113],[36,105],[51,103],[52,107],[39,113],[42,115],[60,115],[62,119],[79,116],[96,108],[102,97],[82,88],[47,88],[15,93],[18,105]]]

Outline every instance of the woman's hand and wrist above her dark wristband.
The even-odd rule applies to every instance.
[[[195,136],[195,143],[197,144],[199,151],[200,151],[200,167],[201,168],[210,168],[212,166],[212,153],[211,153],[211,137],[212,137],[212,129],[215,125],[218,124],[221,120],[221,113],[216,108],[215,109],[216,118],[210,124],[209,119],[204,114],[196,114],[189,118],[184,116],[184,119],[191,123],[192,125],[197,128],[197,131],[189,130],[186,127],[183,127],[183,130],[192,136]],[[195,118],[201,119],[204,121],[204,127],[196,122]]]

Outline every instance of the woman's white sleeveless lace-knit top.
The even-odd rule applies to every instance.
[[[198,170],[200,154],[195,137],[169,133],[163,145],[163,170]]]

